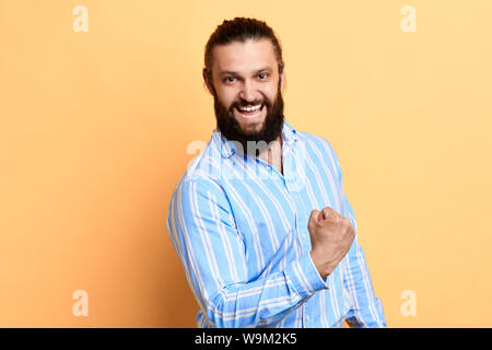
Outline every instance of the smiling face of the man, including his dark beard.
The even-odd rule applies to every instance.
[[[245,150],[247,141],[276,140],[283,125],[282,82],[269,39],[215,46],[208,86],[220,131]]]

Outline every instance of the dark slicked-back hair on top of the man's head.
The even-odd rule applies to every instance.
[[[262,39],[268,38],[273,45],[273,50],[279,63],[279,74],[283,71],[282,48],[273,30],[263,21],[246,18],[235,18],[234,20],[224,20],[221,25],[215,28],[215,32],[210,35],[204,50],[204,68],[203,72],[208,81],[212,81],[212,61],[213,48],[215,45],[227,45],[233,42],[244,43],[247,39]]]

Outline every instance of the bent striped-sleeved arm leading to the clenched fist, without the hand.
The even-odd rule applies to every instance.
[[[331,282],[321,279],[309,254],[281,272],[249,281],[245,246],[227,197],[212,179],[194,177],[177,187],[167,228],[212,327],[270,327]]]

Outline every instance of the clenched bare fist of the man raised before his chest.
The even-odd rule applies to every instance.
[[[349,219],[330,207],[313,210],[307,230],[313,246],[311,258],[321,278],[326,278],[349,252],[355,230]]]

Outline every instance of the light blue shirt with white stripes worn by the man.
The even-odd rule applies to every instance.
[[[311,211],[351,220],[337,154],[282,127],[283,175],[216,129],[176,186],[167,229],[200,306],[198,327],[386,327],[358,236],[327,278],[309,256]]]

